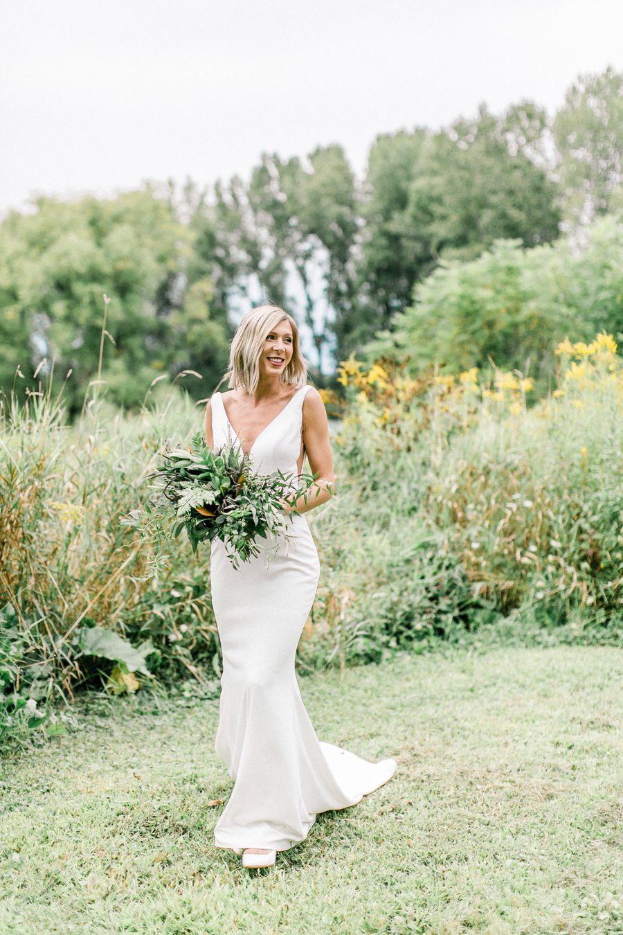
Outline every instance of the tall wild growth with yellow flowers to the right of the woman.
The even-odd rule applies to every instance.
[[[558,388],[531,407],[517,373],[342,366],[346,494],[315,530],[343,664],[500,617],[619,639],[622,361],[606,335],[557,355]]]

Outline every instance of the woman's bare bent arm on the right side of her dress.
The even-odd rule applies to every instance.
[[[308,490],[286,507],[286,512],[306,513],[313,510],[330,500],[335,489],[329,420],[322,396],[314,387],[305,394],[303,400],[303,444],[312,474],[318,472],[318,477]]]

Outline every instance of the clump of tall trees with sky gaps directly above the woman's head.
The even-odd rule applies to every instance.
[[[335,309],[353,302],[355,179],[339,146],[305,159],[262,153],[248,185],[215,189],[194,224],[199,263],[225,302],[241,295],[298,313],[322,367]]]

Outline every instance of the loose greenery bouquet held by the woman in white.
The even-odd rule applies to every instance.
[[[143,539],[157,540],[147,577],[163,567],[164,545],[183,529],[193,554],[200,542],[220,539],[234,568],[260,554],[258,539],[283,536],[287,546],[293,534],[284,504],[305,496],[316,476],[260,474],[240,447],[228,443],[213,452],[199,432],[190,448],[167,443],[163,458],[163,465],[148,475],[156,497],[145,505],[145,513],[131,511],[121,521],[139,529]],[[270,550],[266,554],[270,557]]]

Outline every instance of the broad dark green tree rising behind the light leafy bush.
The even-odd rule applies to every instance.
[[[541,158],[545,114],[522,102],[501,117],[481,107],[432,134],[378,137],[370,152],[367,220],[351,321],[337,323],[342,356],[391,327],[413,286],[443,259],[471,259],[496,239],[526,246],[559,234],[556,188]]]

